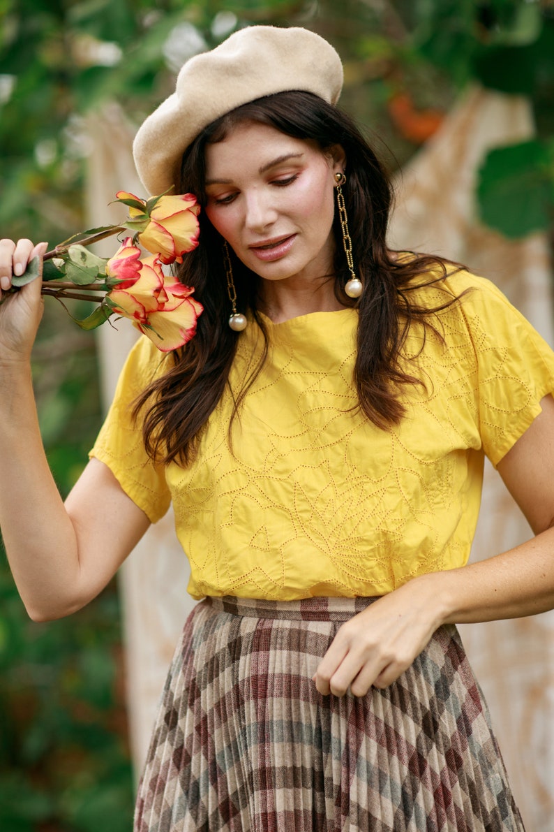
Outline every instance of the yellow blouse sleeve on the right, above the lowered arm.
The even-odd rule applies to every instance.
[[[460,309],[477,361],[483,449],[496,467],[554,394],[554,353],[488,280],[471,277]]]

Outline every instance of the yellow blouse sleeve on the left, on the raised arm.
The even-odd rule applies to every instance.
[[[114,400],[89,453],[105,463],[125,493],[141,508],[150,522],[162,518],[171,497],[164,466],[154,463],[145,451],[142,423],[133,418],[136,397],[163,365],[163,355],[143,337],[125,362],[115,389]]]

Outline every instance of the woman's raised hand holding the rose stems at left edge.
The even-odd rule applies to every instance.
[[[42,256],[47,243],[33,245],[31,240],[0,240],[0,300],[12,286],[12,276],[22,275],[27,265],[38,256],[40,274],[22,286],[0,305],[0,363],[27,362],[42,318],[43,299]]]

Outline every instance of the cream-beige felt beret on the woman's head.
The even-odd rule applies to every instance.
[[[150,194],[177,186],[181,158],[203,128],[235,107],[288,90],[313,92],[335,104],[341,58],[315,32],[299,27],[250,26],[211,52],[190,58],[175,92],[140,126],[133,154]]]

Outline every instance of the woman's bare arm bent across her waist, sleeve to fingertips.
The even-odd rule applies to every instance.
[[[554,399],[498,465],[536,537],[479,563],[415,578],[346,622],[314,680],[321,693],[385,687],[438,626],[483,622],[554,607]]]

